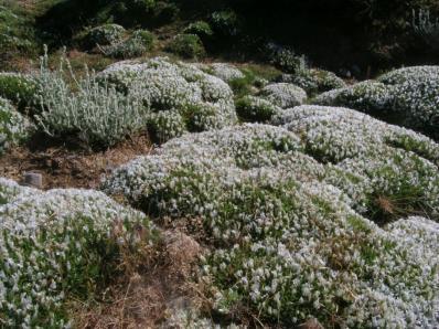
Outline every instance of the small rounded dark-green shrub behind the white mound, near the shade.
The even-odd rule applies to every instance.
[[[185,59],[200,59],[205,55],[203,42],[195,34],[178,34],[168,44],[168,51]]]

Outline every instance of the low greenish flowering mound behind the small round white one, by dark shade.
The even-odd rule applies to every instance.
[[[335,73],[318,68],[299,70],[296,74],[283,74],[281,82],[295,84],[311,96],[346,86],[345,82]]]

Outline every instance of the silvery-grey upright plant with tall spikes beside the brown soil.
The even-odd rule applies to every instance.
[[[56,138],[74,135],[88,146],[109,147],[144,127],[148,109],[136,86],[122,95],[106,81],[98,82],[87,67],[78,78],[65,56],[56,71],[49,68],[47,61],[45,52],[40,72],[41,113],[35,116],[45,134]]]

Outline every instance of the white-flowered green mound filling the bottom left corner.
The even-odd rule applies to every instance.
[[[0,198],[0,314],[9,328],[65,327],[65,301],[89,298],[117,273],[122,248],[136,253],[153,238],[142,213],[100,192],[40,192],[1,179]]]

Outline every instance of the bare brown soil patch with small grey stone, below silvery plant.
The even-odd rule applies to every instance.
[[[42,142],[18,147],[0,157],[0,177],[20,182],[25,172],[43,176],[43,188],[96,189],[104,174],[153,146],[148,136],[137,136],[103,151],[72,149],[62,144]]]

